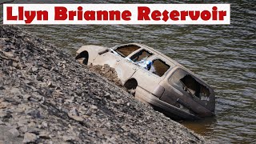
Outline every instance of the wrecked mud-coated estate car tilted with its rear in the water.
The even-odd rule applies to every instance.
[[[111,48],[82,46],[76,59],[114,68],[135,98],[174,119],[214,115],[214,90],[193,72],[149,46],[130,43]]]

